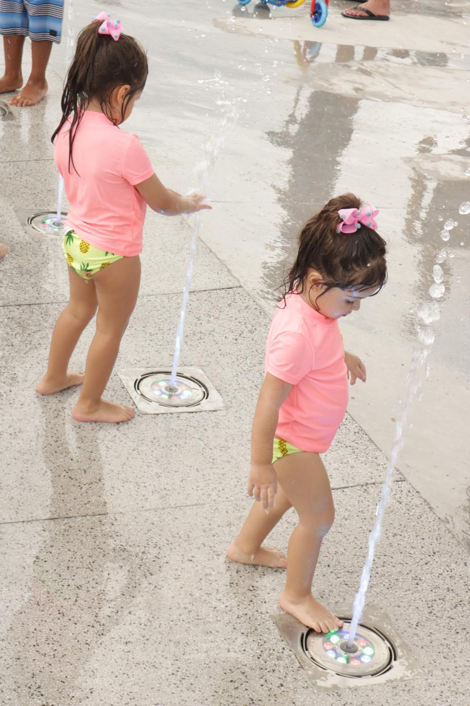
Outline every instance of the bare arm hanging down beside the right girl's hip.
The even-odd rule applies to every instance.
[[[272,508],[277,493],[277,479],[272,467],[272,441],[274,440],[279,407],[286,399],[292,385],[266,374],[256,405],[251,429],[251,469],[248,476],[248,495]]]

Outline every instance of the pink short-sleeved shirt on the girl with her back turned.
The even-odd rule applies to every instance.
[[[95,248],[131,257],[142,251],[147,204],[134,184],[154,169],[139,138],[112,124],[104,113],[85,110],[73,140],[68,170],[71,119],[56,137],[54,157],[70,202],[66,224]],[[77,173],[78,172],[78,173]]]

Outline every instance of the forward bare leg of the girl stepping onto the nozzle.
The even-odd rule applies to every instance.
[[[279,459],[275,471],[299,515],[299,525],[289,539],[287,580],[279,605],[318,633],[336,630],[342,622],[312,595],[320,547],[335,517],[325,466],[318,453],[295,453]]]

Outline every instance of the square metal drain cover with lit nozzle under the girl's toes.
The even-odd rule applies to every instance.
[[[348,611],[335,614],[342,616],[344,627],[327,635],[315,633],[287,613],[272,616],[316,688],[358,688],[423,676],[382,610],[368,606],[364,611],[351,649],[347,645],[351,624]]]

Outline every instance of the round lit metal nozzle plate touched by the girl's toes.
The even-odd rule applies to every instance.
[[[306,650],[311,659],[323,669],[334,671],[335,674],[342,676],[361,677],[381,674],[394,657],[391,643],[373,628],[361,625],[349,648],[350,625],[350,621],[344,621],[341,630],[335,630],[327,635],[311,630],[306,638]]]

